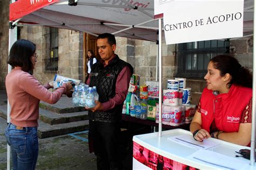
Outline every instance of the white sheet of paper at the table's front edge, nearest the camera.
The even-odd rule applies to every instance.
[[[227,155],[208,150],[198,150],[187,158],[220,169],[245,169],[249,161],[228,157]]]

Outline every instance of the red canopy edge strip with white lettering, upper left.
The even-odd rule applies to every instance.
[[[59,0],[18,0],[10,4],[10,21],[24,17]]]

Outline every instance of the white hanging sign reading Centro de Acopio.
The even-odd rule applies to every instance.
[[[166,44],[242,37],[243,0],[174,0],[163,12]]]

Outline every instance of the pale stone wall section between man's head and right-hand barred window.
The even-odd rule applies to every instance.
[[[167,88],[167,80],[175,74],[175,45],[162,44],[162,83]],[[135,40],[134,73],[140,75],[140,84],[156,80],[158,45],[156,42]],[[159,70],[158,70],[159,73]],[[159,78],[159,77],[158,77]]]

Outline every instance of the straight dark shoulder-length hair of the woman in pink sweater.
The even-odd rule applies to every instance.
[[[31,57],[36,52],[36,45],[29,41],[20,39],[14,42],[10,49],[7,63],[12,67],[21,67],[24,72],[33,73]]]

